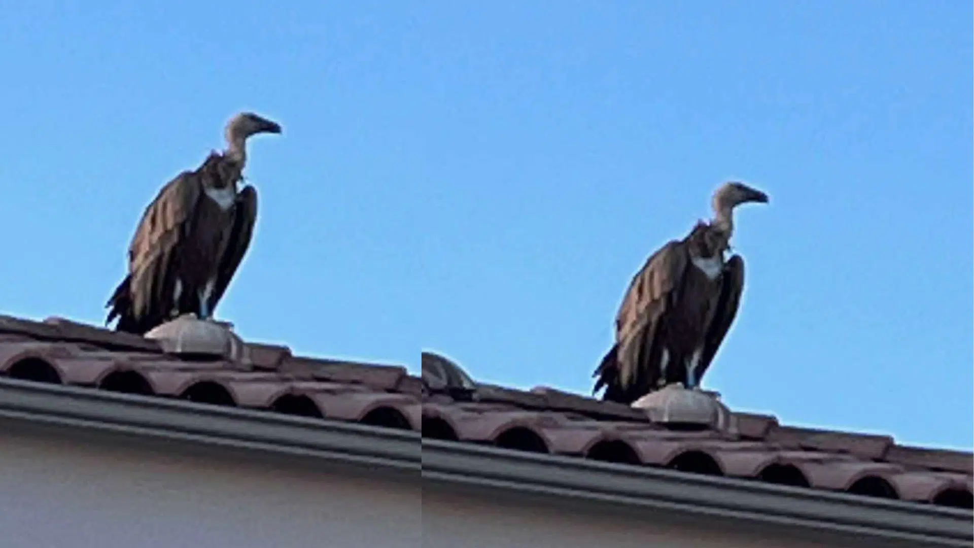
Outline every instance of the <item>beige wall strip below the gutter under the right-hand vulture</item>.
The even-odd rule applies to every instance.
[[[758,530],[760,529],[760,530]],[[553,502],[424,489],[426,548],[822,548],[861,542],[809,541],[785,531],[740,528],[706,519],[674,521],[650,511],[592,513]],[[770,535],[770,536],[769,536]]]

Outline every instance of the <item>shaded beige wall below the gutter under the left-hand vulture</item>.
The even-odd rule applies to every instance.
[[[6,427],[6,425],[3,425]],[[0,430],[3,548],[414,548],[419,482]]]

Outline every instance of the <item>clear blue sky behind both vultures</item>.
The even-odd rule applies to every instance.
[[[556,6],[556,7],[555,7]],[[279,120],[217,315],[298,352],[587,393],[646,256],[731,177],[736,324],[704,386],[970,449],[967,2],[50,2],[0,18],[0,309],[100,324],[135,222]]]

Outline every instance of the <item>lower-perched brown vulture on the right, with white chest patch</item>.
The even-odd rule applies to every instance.
[[[712,198],[714,218],[650,255],[632,278],[616,316],[616,343],[592,376],[594,394],[629,405],[671,383],[699,389],[731,328],[744,287],[744,259],[731,249],[734,208],[768,195],[727,182]]]

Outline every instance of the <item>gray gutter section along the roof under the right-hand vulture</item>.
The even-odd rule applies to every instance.
[[[440,440],[423,440],[423,480],[813,528],[864,546],[969,547],[974,539],[972,514],[960,509]]]

